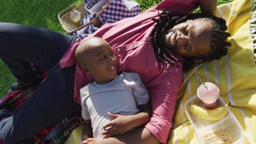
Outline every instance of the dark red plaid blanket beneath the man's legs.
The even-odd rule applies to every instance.
[[[32,97],[32,94],[37,91],[38,87],[31,87],[19,91],[11,91],[0,99],[0,109],[2,107],[11,107],[15,111],[19,106],[25,103],[26,100]],[[49,125],[43,130],[38,131],[26,143],[65,143],[71,134],[72,130],[82,124],[81,112],[75,113],[71,117],[67,117],[62,122]],[[0,140],[0,144],[3,142]]]

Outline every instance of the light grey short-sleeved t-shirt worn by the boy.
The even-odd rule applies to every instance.
[[[113,120],[107,112],[135,115],[137,105],[146,104],[149,95],[138,74],[123,72],[114,80],[97,85],[89,83],[80,89],[82,117],[91,119],[95,139],[102,139],[103,125]]]

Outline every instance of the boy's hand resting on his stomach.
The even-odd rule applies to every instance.
[[[124,134],[126,131],[131,129],[130,118],[129,118],[130,116],[124,116],[124,115],[114,114],[110,112],[108,112],[108,115],[115,119],[103,126],[103,129],[110,127],[102,132],[102,135],[104,135],[103,139]]]

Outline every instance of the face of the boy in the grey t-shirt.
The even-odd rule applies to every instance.
[[[86,54],[89,62],[83,69],[94,77],[97,84],[107,83],[117,76],[117,57],[108,44],[95,47]]]

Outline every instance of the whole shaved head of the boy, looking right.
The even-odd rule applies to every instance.
[[[117,57],[107,41],[101,38],[82,40],[75,51],[75,59],[84,73],[94,77],[97,84],[107,83],[117,76]]]

